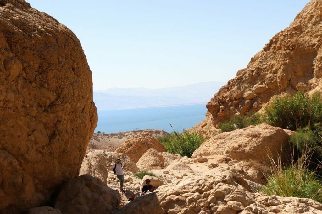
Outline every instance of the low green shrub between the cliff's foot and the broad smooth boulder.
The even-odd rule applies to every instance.
[[[220,132],[231,132],[235,129],[243,129],[250,125],[260,124],[260,118],[258,114],[254,112],[248,112],[246,116],[236,115],[233,116],[229,121],[225,121],[219,124]]]

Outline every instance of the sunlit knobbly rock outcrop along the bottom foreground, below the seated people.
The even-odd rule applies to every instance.
[[[321,213],[322,204],[311,199],[251,193],[243,185],[243,178],[228,171],[196,173],[137,197],[116,213]]]

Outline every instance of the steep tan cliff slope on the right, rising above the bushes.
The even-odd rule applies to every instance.
[[[322,2],[310,1],[208,102],[212,122],[258,111],[274,95],[322,91]]]

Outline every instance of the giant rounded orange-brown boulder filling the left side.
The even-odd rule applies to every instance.
[[[49,200],[78,175],[97,123],[75,34],[23,0],[0,4],[0,213]]]

